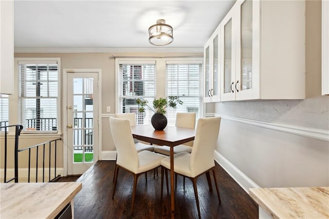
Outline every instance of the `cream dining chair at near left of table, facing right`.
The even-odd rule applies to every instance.
[[[117,161],[115,165],[115,180],[112,198],[114,198],[119,168],[129,171],[134,176],[134,187],[132,194],[131,214],[133,214],[135,204],[135,194],[137,180],[140,174],[146,173],[160,166],[160,162],[166,156],[144,150],[137,152],[127,119],[109,118],[111,133],[115,147],[117,149]]]

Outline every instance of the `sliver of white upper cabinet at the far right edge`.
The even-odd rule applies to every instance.
[[[322,95],[329,95],[329,1],[322,0]]]

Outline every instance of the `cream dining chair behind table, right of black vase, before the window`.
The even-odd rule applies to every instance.
[[[195,113],[176,113],[176,122],[175,126],[177,127],[186,127],[194,129],[195,127]],[[180,152],[191,153],[192,151],[192,142],[185,144],[180,144],[174,147],[174,154]],[[168,146],[156,146],[154,152],[170,156],[170,147]]]

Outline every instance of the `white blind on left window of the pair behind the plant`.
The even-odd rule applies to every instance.
[[[136,124],[150,123],[153,115],[153,112],[146,108],[144,113],[138,113],[136,100],[148,100],[152,106],[155,98],[155,69],[155,62],[119,64],[119,111],[136,113]]]

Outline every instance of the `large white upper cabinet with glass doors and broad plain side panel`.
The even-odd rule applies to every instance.
[[[305,98],[305,2],[238,0],[221,22],[221,101]]]

